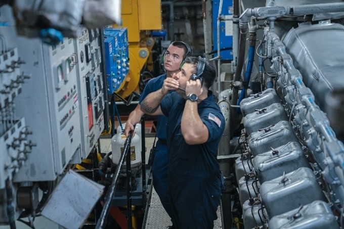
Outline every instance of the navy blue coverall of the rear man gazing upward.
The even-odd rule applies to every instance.
[[[140,105],[148,94],[160,89],[163,81],[166,79],[166,74],[162,74],[148,81],[140,97]],[[164,115],[157,116],[156,148],[154,153],[152,176],[153,187],[158,194],[161,204],[166,210],[169,217],[171,217],[171,206],[168,198],[168,185],[167,185],[167,145],[166,145],[166,123],[167,117]]]

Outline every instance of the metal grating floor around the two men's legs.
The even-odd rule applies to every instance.
[[[149,208],[146,225],[143,228],[146,229],[164,229],[172,225],[169,216],[167,215],[165,209],[162,207],[158,194],[152,189],[152,196]],[[214,229],[221,229],[221,212],[220,207],[218,208],[218,219],[214,221]],[[147,214],[147,213],[146,213]]]

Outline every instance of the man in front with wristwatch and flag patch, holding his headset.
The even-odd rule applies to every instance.
[[[168,118],[168,188],[175,228],[213,228],[217,218],[217,154],[225,119],[209,90],[215,77],[205,59],[188,57],[179,73],[141,103],[145,113]]]

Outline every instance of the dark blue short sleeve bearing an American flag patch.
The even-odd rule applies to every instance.
[[[206,109],[206,112],[202,112],[201,119],[208,128],[209,141],[221,138],[225,129],[225,118],[223,114],[214,109]]]

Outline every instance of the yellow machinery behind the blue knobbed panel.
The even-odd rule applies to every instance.
[[[138,90],[140,72],[148,59],[151,59],[149,57],[155,41],[150,31],[161,29],[160,0],[122,1],[120,27],[126,27],[128,31],[130,70],[116,93],[126,98]]]

